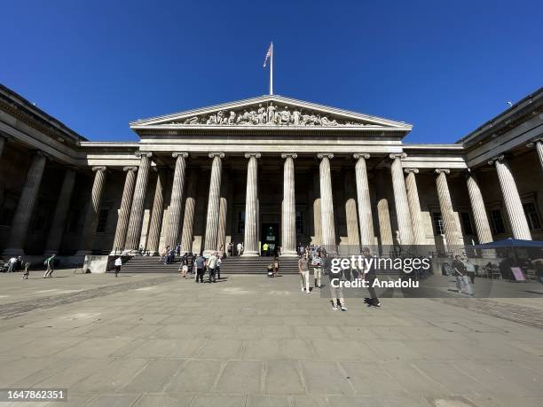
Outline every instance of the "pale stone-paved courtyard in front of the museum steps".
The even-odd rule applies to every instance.
[[[543,299],[353,298],[341,312],[297,276],[73,270],[0,287],[0,387],[64,387],[61,406],[543,405],[543,331],[525,315]]]

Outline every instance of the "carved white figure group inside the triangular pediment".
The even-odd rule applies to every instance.
[[[365,123],[342,121],[322,112],[306,110],[298,106],[279,106],[272,102],[260,103],[258,106],[245,106],[236,110],[218,110],[214,113],[190,116],[183,121],[173,121],[171,124],[199,125],[276,125],[276,126],[365,126]]]

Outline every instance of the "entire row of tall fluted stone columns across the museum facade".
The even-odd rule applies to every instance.
[[[4,150],[4,137],[0,137],[0,156]],[[541,140],[535,140],[539,154],[539,160],[543,167],[543,144]],[[114,234],[113,250],[135,251],[138,250],[142,223],[145,211],[146,189],[149,172],[151,170],[152,153],[137,153],[139,157],[138,167],[125,167],[126,172],[122,191],[121,207],[119,209],[118,222]],[[193,223],[195,209],[196,184],[198,176],[192,172],[188,177],[185,188],[185,168],[188,158],[186,152],[172,153],[176,159],[173,182],[167,185],[166,178],[161,172],[157,177],[154,190],[153,211],[151,215],[150,233],[147,240],[147,248],[153,254],[159,251],[159,239],[161,234],[164,191],[171,188],[168,217],[165,223],[165,245],[174,247],[177,243],[180,227],[182,235],[182,250],[192,249]],[[283,255],[295,255],[295,159],[296,153],[280,153],[283,160],[283,197],[281,205],[281,247]],[[334,250],[336,245],[334,231],[334,200],[333,184],[331,176],[331,160],[333,153],[318,153],[319,160],[319,224],[315,230],[320,231],[319,243],[329,250]],[[244,255],[256,255],[258,247],[258,160],[260,153],[245,153],[247,159],[247,192],[245,202],[245,239]],[[370,158],[368,153],[354,153],[353,175],[356,184],[356,208],[350,208],[350,217],[358,215],[358,243],[364,246],[374,245],[374,222],[371,207],[370,191],[366,160]],[[205,225],[204,251],[216,251],[224,248],[224,228],[226,218],[226,201],[224,193],[221,193],[221,181],[223,178],[224,153],[209,153],[211,160],[211,175],[209,179],[209,199]],[[417,189],[416,175],[418,168],[404,168],[405,153],[390,154],[390,176],[394,192],[394,205],[397,215],[398,236],[397,240],[402,245],[424,245],[427,243],[421,222],[421,203]],[[43,170],[47,161],[44,153],[34,154],[26,182],[23,186],[18,206],[13,216],[9,247],[4,254],[23,254],[23,247],[28,233],[30,216],[33,214],[37,193],[41,184]],[[500,188],[504,199],[504,206],[511,224],[512,235],[515,239],[531,239],[531,232],[523,212],[523,205],[515,184],[515,178],[511,173],[508,160],[503,155],[489,161],[496,168],[500,181]],[[83,226],[83,239],[77,254],[91,254],[98,223],[98,208],[104,184],[106,182],[107,168],[103,166],[93,167],[94,180],[91,191],[91,201],[85,214]],[[453,204],[447,176],[450,168],[435,168],[436,188],[439,207],[444,222],[445,238],[448,245],[461,245],[461,231],[453,213]],[[76,168],[67,168],[59,193],[59,200],[52,218],[51,228],[46,239],[46,253],[56,253],[59,250],[62,234],[67,222],[67,209],[70,207],[70,199],[75,188]],[[476,234],[479,242],[492,241],[492,231],[484,206],[478,180],[473,171],[468,170],[466,184],[469,201],[474,215]],[[186,193],[185,193],[186,192]],[[186,197],[184,197],[186,194]],[[185,213],[182,214],[182,202],[185,198]],[[358,210],[357,210],[358,209]],[[354,212],[353,212],[354,210]],[[388,202],[377,204],[379,225],[382,229],[382,244],[389,244],[386,238],[386,215],[388,214]],[[385,213],[386,212],[386,213]],[[181,219],[183,218],[183,222]],[[390,228],[390,219],[388,220]],[[389,231],[391,234],[391,231]],[[353,233],[354,235],[354,233]],[[387,240],[387,241],[385,241]],[[390,240],[391,236],[390,236]]]

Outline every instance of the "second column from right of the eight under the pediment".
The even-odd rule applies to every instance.
[[[374,245],[374,217],[372,215],[372,202],[370,199],[366,168],[366,160],[370,158],[370,155],[366,153],[356,153],[353,154],[353,157],[357,160],[355,174],[357,179],[360,244],[363,247],[372,246]]]

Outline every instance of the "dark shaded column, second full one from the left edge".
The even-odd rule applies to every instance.
[[[67,168],[62,181],[62,186],[60,187],[59,200],[57,200],[55,215],[53,215],[51,228],[49,229],[49,234],[45,243],[45,252],[43,254],[51,255],[59,252],[62,235],[64,234],[64,228],[66,227],[70,200],[72,198],[72,192],[74,191],[75,176],[75,169]]]

